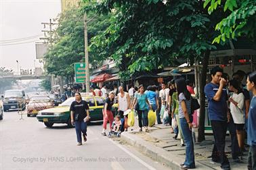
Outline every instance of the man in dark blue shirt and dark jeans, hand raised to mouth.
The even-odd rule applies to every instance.
[[[230,169],[230,163],[225,154],[226,132],[228,128],[228,93],[226,92],[226,80],[221,78],[223,69],[214,67],[211,69],[211,82],[205,86],[205,94],[208,99],[208,113],[213,129],[214,147],[212,160],[221,163],[221,169]]]

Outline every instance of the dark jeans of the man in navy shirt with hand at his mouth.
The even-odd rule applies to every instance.
[[[230,162],[225,154],[225,140],[228,123],[226,121],[211,121],[213,128],[214,146],[211,158],[215,162],[220,162],[221,167],[230,167]]]

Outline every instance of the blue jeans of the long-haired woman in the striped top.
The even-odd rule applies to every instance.
[[[186,160],[184,162],[184,165],[190,168],[194,168],[194,143],[192,138],[192,131],[188,127],[188,123],[184,117],[180,118],[179,121],[180,125],[182,126],[182,134],[184,136],[184,142],[186,144]]]

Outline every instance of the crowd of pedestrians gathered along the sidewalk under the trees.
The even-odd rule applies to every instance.
[[[247,84],[242,84],[247,79]],[[156,123],[163,121],[162,111],[168,111],[169,125],[173,138],[180,139],[180,145],[186,147],[186,159],[181,164],[182,169],[194,169],[194,140],[192,137],[194,114],[194,87],[190,80],[176,78],[165,84],[162,82],[145,88],[129,86],[125,92],[123,86],[114,87],[108,92],[106,86],[101,89],[91,87],[94,96],[102,96],[106,103],[103,109],[104,124],[102,134],[106,136],[107,123],[110,131],[120,130],[122,119],[127,120],[127,111],[137,113],[139,131],[149,132],[148,112],[154,111]],[[79,93],[76,93],[79,96]],[[228,74],[223,73],[220,67],[211,69],[211,82],[205,86],[205,96],[208,101],[207,113],[213,130],[214,146],[211,159],[221,164],[221,169],[230,169],[230,162],[225,154],[226,134],[230,132],[232,145],[232,159],[240,163],[244,157],[245,146],[249,146],[248,169],[256,169],[256,72],[245,74],[238,70],[230,80]],[[77,97],[77,96],[76,96]],[[112,113],[112,105],[118,105],[116,115]],[[77,99],[76,99],[77,100]],[[77,100],[76,105],[79,103]],[[192,105],[193,103],[193,105]],[[251,103],[251,104],[250,104]],[[70,111],[76,112],[75,106]],[[85,108],[85,111],[87,109]],[[85,117],[83,113],[83,117]],[[114,119],[115,117],[115,119]],[[114,121],[114,123],[113,123]],[[112,125],[113,124],[113,125]],[[78,125],[79,126],[79,125]],[[78,141],[81,141],[81,130],[77,130]],[[125,130],[127,130],[127,126]],[[83,132],[86,138],[86,132]],[[247,144],[245,140],[247,139]]]

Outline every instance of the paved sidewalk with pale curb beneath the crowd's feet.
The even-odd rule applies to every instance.
[[[154,125],[150,132],[138,132],[138,128],[130,128],[129,132],[121,134],[121,140],[134,146],[137,150],[151,157],[153,160],[163,163],[171,169],[180,169],[179,164],[185,160],[185,146],[180,146],[180,140],[173,139],[170,126]],[[194,145],[196,159],[196,169],[221,169],[219,163],[211,161],[211,151],[213,149],[213,135],[205,136],[206,140]],[[231,157],[230,136],[226,136],[226,154],[230,161],[231,169],[247,169],[247,155],[244,152],[242,163],[235,163]],[[249,150],[249,148],[246,148]]]

